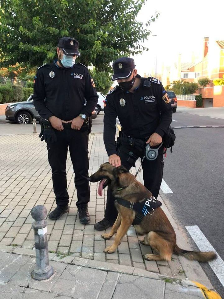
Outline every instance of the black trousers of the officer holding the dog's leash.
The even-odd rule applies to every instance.
[[[124,146],[124,145],[122,145]],[[125,146],[126,150],[133,151],[133,147],[127,145]],[[135,154],[142,158],[144,156],[143,151],[135,151]],[[128,159],[128,154],[122,151],[122,147],[120,152],[118,153],[120,159],[121,159],[121,164],[127,168],[128,170],[132,167],[135,166],[135,162],[130,164],[127,159]],[[162,182],[162,177],[163,177],[163,147],[159,149],[158,156],[155,160],[149,161],[146,158],[144,159],[142,163],[142,170],[143,170],[143,180],[144,180],[144,186],[152,192],[152,195],[154,197],[158,197],[159,195],[159,190]],[[107,189],[107,203],[106,203],[106,209],[105,209],[105,218],[108,219],[109,221],[114,221],[117,218],[118,211],[114,206],[114,200],[115,198],[112,195],[111,192],[111,186],[108,186]]]

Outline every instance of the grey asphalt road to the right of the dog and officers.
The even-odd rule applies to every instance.
[[[186,109],[183,111],[186,112]],[[219,116],[223,118],[214,119],[214,116],[189,112],[174,113],[175,121],[171,126],[224,125],[224,113]],[[200,113],[206,114],[202,110]],[[161,192],[160,195],[176,222],[183,229],[198,225],[224,260],[224,128],[176,129],[175,132],[173,153],[168,150],[163,175],[173,193]],[[210,266],[206,263],[203,269],[224,297],[223,286]]]

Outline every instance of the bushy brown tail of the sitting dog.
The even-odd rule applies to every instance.
[[[183,255],[186,259],[196,260],[198,262],[208,262],[217,257],[216,253],[213,251],[189,251],[181,249],[177,245],[174,248],[174,253],[176,255]]]

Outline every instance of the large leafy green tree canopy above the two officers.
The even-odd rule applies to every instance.
[[[110,71],[120,55],[137,55],[150,35],[136,21],[145,0],[1,0],[0,62],[38,66],[56,55],[58,38],[79,41],[81,62]]]

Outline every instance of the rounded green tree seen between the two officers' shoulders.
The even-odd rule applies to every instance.
[[[90,70],[90,73],[96,85],[96,90],[101,93],[107,94],[112,83],[111,74],[106,71],[100,72],[95,68]]]

